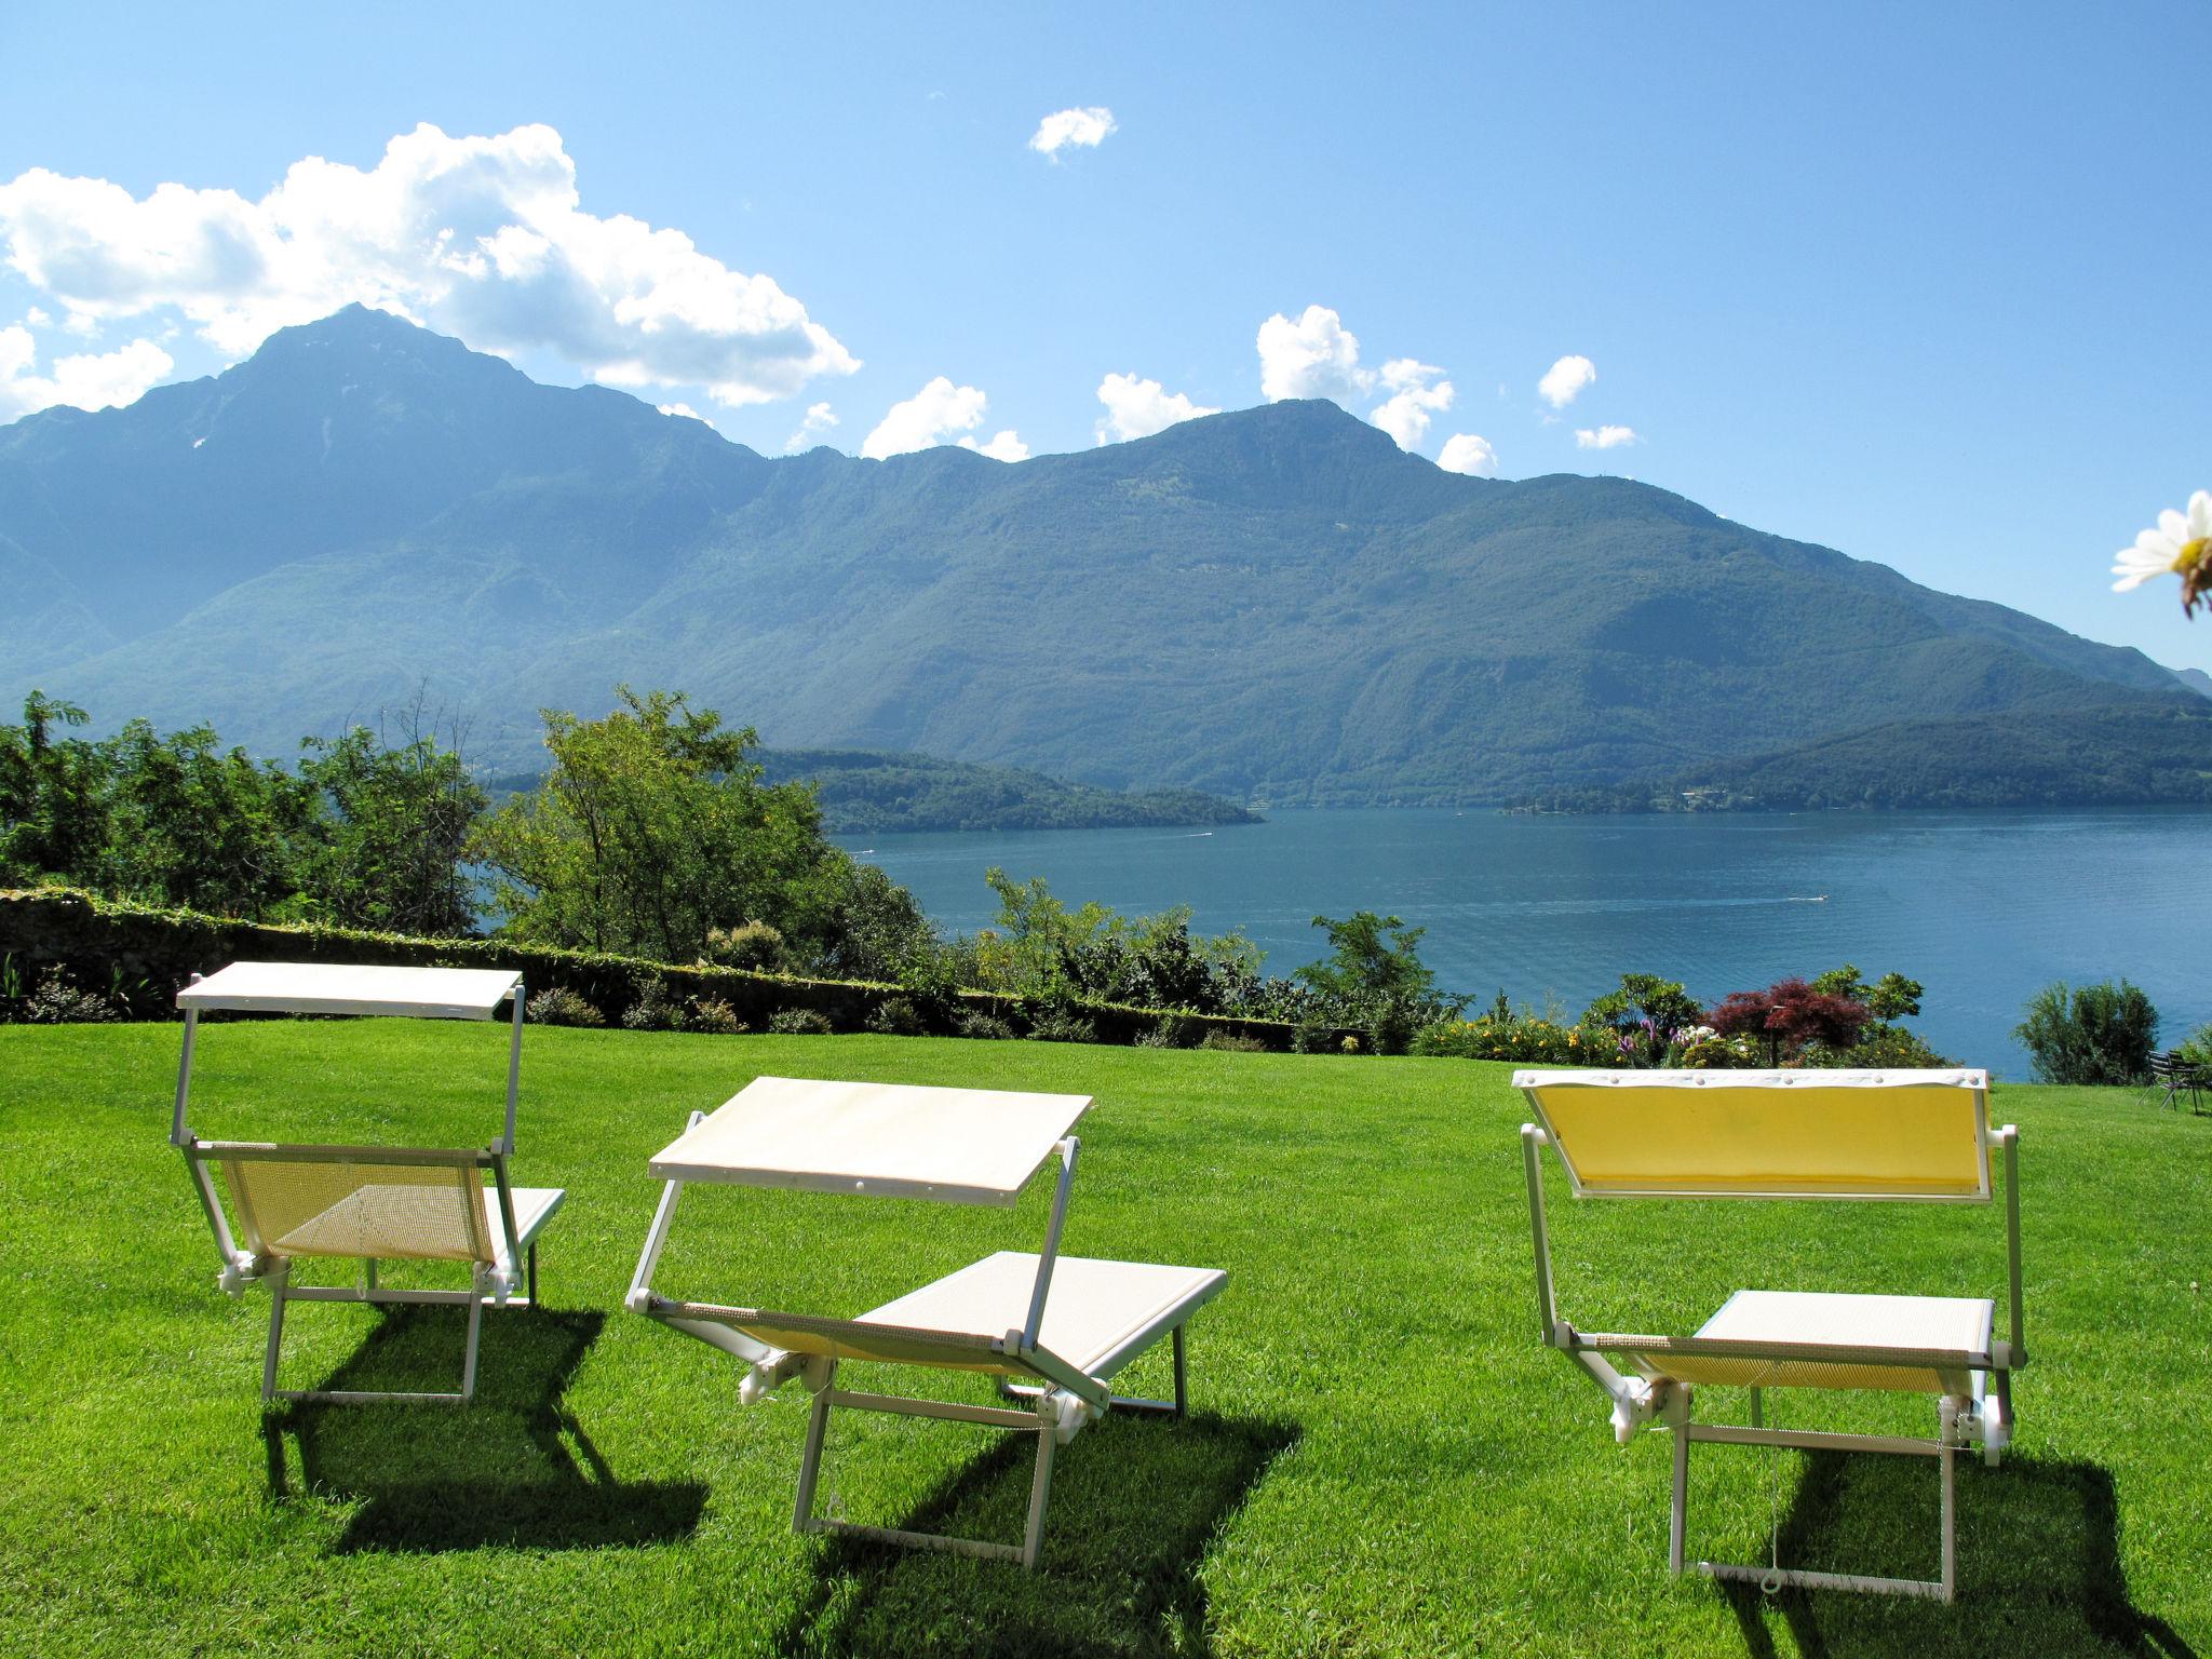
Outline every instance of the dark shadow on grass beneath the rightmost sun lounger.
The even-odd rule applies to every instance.
[[[1796,1498],[1781,1524],[1781,1559],[1838,1571],[1936,1571],[1936,1469],[1927,1458],[1849,1458],[1818,1451],[1794,1478]],[[1699,1540],[1692,1500],[1692,1551],[1725,1548]],[[1756,1562],[1765,1555],[1734,1559]],[[2194,1648],[2128,1597],[2119,1564],[2119,1502],[2112,1478],[2090,1462],[2006,1458],[2002,1469],[1960,1460],[1958,1604],[1887,1595],[1785,1590],[1763,1597],[1750,1584],[1723,1584],[1752,1659],[1778,1652],[1772,1624],[1785,1624],[1794,1652],[1820,1655],[1949,1652],[2139,1655],[2194,1659]]]

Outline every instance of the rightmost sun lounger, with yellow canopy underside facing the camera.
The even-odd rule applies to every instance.
[[[2020,1130],[1989,1128],[1982,1071],[1522,1071],[1535,1108],[1522,1124],[1528,1221],[1544,1340],[1613,1398],[1621,1444],[1639,1427],[1674,1436],[1668,1568],[1683,1571],[1690,1442],[1933,1455],[1942,1469],[1942,1577],[1891,1579],[1699,1562],[1699,1573],[1767,1590],[1958,1593],[1955,1469],[1980,1442],[1995,1464],[2013,1436],[2011,1374],[2026,1365],[2020,1296]],[[1557,1150],[1577,1199],[1896,1199],[1989,1203],[1991,1148],[2004,1150],[2011,1307],[1995,1334],[1984,1296],[1739,1290],[1692,1336],[1584,1332],[1553,1303],[1542,1148]],[[1672,1250],[1694,1239],[1672,1241]],[[1701,1385],[1747,1387],[1750,1425],[1692,1422]],[[1891,1389],[1938,1400],[1933,1440],[1770,1429],[1765,1389]]]

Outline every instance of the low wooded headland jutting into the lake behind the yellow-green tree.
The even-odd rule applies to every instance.
[[[830,834],[1141,830],[1259,823],[1199,790],[1099,790],[1011,765],[872,750],[761,750],[770,783],[812,783]]]

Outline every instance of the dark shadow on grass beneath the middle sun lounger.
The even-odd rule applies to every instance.
[[[1298,1433],[1290,1422],[1206,1413],[1179,1422],[1108,1416],[1064,1447],[1053,1467],[1035,1573],[832,1537],[779,1652],[1203,1655],[1206,1546]],[[1015,1540],[1033,1467],[1033,1436],[1013,1433],[909,1513],[849,1520]],[[834,1464],[823,1471],[823,1502],[832,1489]]]

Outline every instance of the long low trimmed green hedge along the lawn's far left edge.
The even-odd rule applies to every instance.
[[[951,1031],[962,1013],[980,1011],[1026,1031],[1042,1015],[1022,998],[995,991],[958,991],[931,1000],[898,984],[865,980],[803,980],[750,969],[644,962],[602,951],[560,951],[498,938],[407,938],[352,927],[307,927],[241,922],[186,909],[148,909],[71,887],[0,891],[0,960],[22,984],[35,984],[53,969],[88,991],[113,991],[137,1020],[175,1015],[177,991],[195,973],[212,973],[226,962],[400,962],[418,967],[495,967],[522,975],[535,995],[566,987],[606,1020],[619,1022],[648,980],[661,980],[679,1000],[728,1002],[754,1031],[785,1009],[812,1009],[834,1031],[863,1031],[872,1013],[891,998],[905,998],[922,1015],[927,1031]],[[1088,1020],[1099,1042],[1137,1042],[1164,1020],[1177,1022],[1197,1044],[1210,1031],[1254,1037],[1267,1048],[1290,1048],[1292,1026],[1281,1020],[1234,1020],[1208,1013],[1164,1013],[1115,1002],[1066,1006]]]

